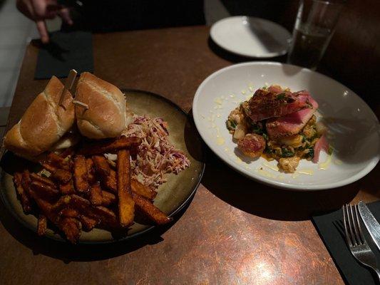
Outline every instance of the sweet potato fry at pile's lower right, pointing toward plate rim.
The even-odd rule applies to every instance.
[[[156,224],[168,224],[172,219],[168,217],[165,213],[161,212],[158,207],[150,202],[148,199],[141,197],[138,194],[132,193],[133,200],[135,201],[135,207],[139,212],[144,214],[148,219],[155,222]]]

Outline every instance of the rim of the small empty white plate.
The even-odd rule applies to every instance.
[[[229,21],[230,19],[237,19],[237,18],[250,18],[250,19],[259,19],[260,21],[267,21],[267,22],[271,22],[272,24],[275,24],[277,25],[279,28],[281,28],[284,33],[287,33],[288,34],[288,38],[292,38],[292,34],[289,33],[289,31],[284,28],[283,26],[277,24],[276,22],[274,21],[269,21],[267,19],[262,19],[262,18],[259,18],[259,17],[252,17],[252,16],[231,16],[231,17],[227,17],[227,18],[223,18],[223,19],[220,19],[219,21],[216,21],[214,24],[212,24],[211,28],[210,28],[210,37],[212,38],[212,41],[214,41],[217,46],[220,46],[221,48],[225,49],[226,51],[229,51],[230,53],[235,53],[239,56],[247,56],[247,57],[250,57],[250,58],[274,58],[276,56],[284,56],[285,54],[287,54],[287,48],[285,48],[283,51],[279,51],[279,52],[276,52],[276,53],[244,53],[244,52],[240,52],[240,51],[235,51],[234,49],[232,48],[229,48],[228,46],[225,46],[223,43],[220,43],[220,41],[217,39],[217,36],[215,36],[215,29],[217,28],[218,25],[220,25],[223,21]]]

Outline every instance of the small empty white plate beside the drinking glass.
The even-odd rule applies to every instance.
[[[284,55],[291,38],[289,31],[279,24],[247,16],[217,21],[211,27],[210,36],[225,50],[254,58]]]

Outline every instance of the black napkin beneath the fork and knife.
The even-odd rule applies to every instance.
[[[374,202],[367,204],[374,217],[380,221],[380,202]],[[368,269],[356,261],[354,256],[349,251],[344,239],[344,225],[343,225],[343,212],[339,209],[335,212],[324,214],[321,216],[312,217],[312,220],[317,227],[319,235],[322,237],[324,245],[334,259],[342,277],[347,284],[379,284],[377,277],[372,273],[371,269]],[[362,224],[364,230],[364,236],[370,247],[378,264],[380,266],[380,252],[376,248],[374,243],[371,243],[371,236],[366,231],[366,227]]]

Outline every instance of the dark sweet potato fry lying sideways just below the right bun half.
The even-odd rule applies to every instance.
[[[79,154],[89,156],[89,155],[100,155],[101,153],[106,152],[115,152],[123,148],[128,148],[134,145],[140,145],[141,139],[137,137],[126,138],[122,136],[118,139],[113,140],[103,140],[102,142],[95,142],[88,145],[85,145]]]

